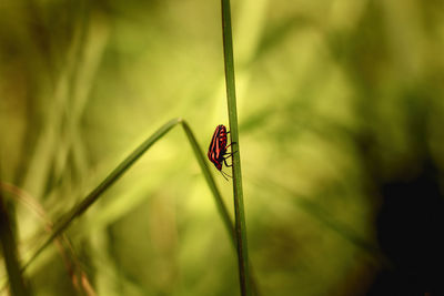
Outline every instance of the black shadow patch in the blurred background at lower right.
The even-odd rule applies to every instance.
[[[393,266],[377,274],[367,295],[444,295],[444,201],[430,160],[381,184],[377,239]]]

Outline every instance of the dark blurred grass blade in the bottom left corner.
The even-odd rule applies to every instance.
[[[3,252],[4,263],[11,287],[11,295],[30,295],[24,285],[22,273],[20,272],[20,261],[16,238],[11,229],[6,202],[0,188],[0,244]]]

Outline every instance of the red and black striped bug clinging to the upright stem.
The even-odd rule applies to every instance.
[[[229,176],[225,172],[222,171],[222,163],[224,163],[228,167],[233,166],[233,164],[229,165],[226,163],[226,160],[230,159],[234,152],[232,153],[226,153],[226,149],[233,144],[233,142],[230,145],[226,145],[226,135],[230,132],[226,132],[226,127],[223,124],[220,124],[215,127],[213,137],[211,139],[209,152],[206,153],[209,160],[214,164],[215,169],[218,169],[223,177],[228,181],[225,177]],[[235,143],[235,142],[234,142]]]

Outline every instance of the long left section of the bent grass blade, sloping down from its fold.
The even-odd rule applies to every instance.
[[[52,234],[44,241],[40,248],[31,256],[23,269],[31,264],[39,254],[47,248],[51,242],[58,237],[68,226],[80,215],[82,215],[112,184],[114,184],[124,172],[145,153],[160,137],[168,133],[172,127],[180,123],[181,119],[173,119],[162,125],[154,134],[138,146],[123,162],[121,162],[83,201],[68,212],[53,227]]]

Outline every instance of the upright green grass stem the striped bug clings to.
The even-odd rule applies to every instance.
[[[230,132],[232,141],[233,154],[233,197],[234,197],[234,217],[235,234],[238,239],[238,261],[239,261],[239,278],[241,284],[241,295],[251,295],[250,288],[250,266],[249,252],[246,243],[245,214],[243,206],[242,191],[242,173],[241,173],[241,152],[239,145],[238,132],[238,111],[234,83],[234,58],[233,58],[233,40],[231,32],[231,10],[230,0],[221,0],[222,6],[222,37],[224,69],[226,83],[226,101],[229,110]]]

